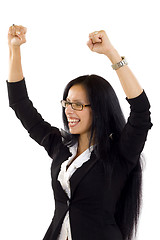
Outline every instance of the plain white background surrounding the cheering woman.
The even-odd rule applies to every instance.
[[[95,73],[114,87],[127,118],[129,106],[111,63],[86,45],[88,34],[104,29],[145,89],[152,122],[145,145],[143,208],[138,240],[160,239],[159,1],[3,1],[0,6],[0,239],[40,240],[54,213],[51,159],[28,137],[8,106],[7,32],[27,27],[22,46],[29,96],[43,118],[62,127],[60,100],[71,79]]]

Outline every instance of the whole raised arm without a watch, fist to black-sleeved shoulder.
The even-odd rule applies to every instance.
[[[8,33],[9,45],[9,77],[7,82],[9,105],[16,116],[28,131],[31,138],[42,145],[50,157],[58,143],[61,143],[61,134],[56,127],[44,121],[42,116],[30,101],[21,65],[20,46],[26,42],[26,28],[12,26]]]

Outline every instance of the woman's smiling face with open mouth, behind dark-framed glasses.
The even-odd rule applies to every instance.
[[[74,85],[69,89],[66,100],[71,103],[90,104],[86,90],[83,85],[80,84]],[[82,111],[77,111],[72,109],[71,105],[69,105],[65,109],[65,114],[68,120],[70,133],[90,137],[92,125],[92,110],[90,106],[83,107]]]

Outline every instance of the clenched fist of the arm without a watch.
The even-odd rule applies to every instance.
[[[26,42],[27,28],[21,25],[12,25],[8,31],[8,45],[9,47],[20,46]]]

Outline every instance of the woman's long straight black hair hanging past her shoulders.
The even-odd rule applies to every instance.
[[[94,138],[96,156],[99,160],[103,160],[105,172],[111,179],[114,161],[118,158],[116,143],[126,124],[118,98],[108,81],[92,74],[70,81],[64,90],[64,100],[67,98],[69,89],[76,84],[81,84],[85,88],[91,104],[93,120],[89,145]],[[65,127],[65,132],[62,133],[64,143],[72,146],[78,141],[79,135],[69,133],[64,109],[62,117]],[[124,240],[131,240],[133,233],[136,235],[141,207],[141,186],[142,168],[139,159],[127,179],[116,207],[115,220]]]

